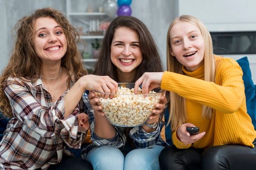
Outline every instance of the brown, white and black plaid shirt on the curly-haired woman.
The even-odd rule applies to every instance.
[[[71,84],[72,87],[72,84]],[[85,134],[77,135],[76,115],[85,111],[83,100],[74,112],[64,118],[65,94],[55,103],[39,78],[24,82],[13,76],[4,92],[9,98],[13,118],[0,142],[0,169],[47,169],[61,161],[65,147],[80,148]]]

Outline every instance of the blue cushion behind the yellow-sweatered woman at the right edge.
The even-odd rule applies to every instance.
[[[238,59],[237,62],[243,70],[247,113],[251,116],[252,124],[256,130],[256,85],[254,85],[252,81],[252,73],[249,67],[248,58],[243,57]]]

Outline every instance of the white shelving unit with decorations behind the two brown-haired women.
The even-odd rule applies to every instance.
[[[96,39],[101,43],[103,39],[104,32],[99,29],[99,25],[113,20],[106,13],[99,12],[102,2],[102,0],[66,0],[67,17],[70,23],[77,28],[80,38],[87,44],[84,52],[88,55],[84,61],[85,68],[88,69],[88,72],[92,71],[94,63],[97,60],[92,54],[94,50],[92,43],[95,43]],[[83,49],[83,46],[79,46],[79,48]]]

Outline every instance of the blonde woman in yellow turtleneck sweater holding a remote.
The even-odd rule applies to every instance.
[[[173,146],[159,156],[162,170],[255,170],[256,131],[247,114],[243,72],[236,61],[213,54],[204,24],[177,17],[167,33],[167,70],[146,72],[144,92],[170,91]],[[190,135],[186,127],[200,128]]]

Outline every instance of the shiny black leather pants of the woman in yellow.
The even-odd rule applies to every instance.
[[[159,155],[161,170],[256,170],[254,148],[243,145],[213,146],[206,150],[167,146]]]

